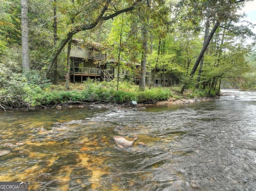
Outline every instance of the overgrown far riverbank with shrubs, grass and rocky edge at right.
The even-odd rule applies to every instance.
[[[139,91],[138,86],[120,83],[116,90],[112,82],[86,82],[71,84],[66,90],[64,84],[50,85],[45,88],[26,85],[16,92],[4,92],[0,96],[0,110],[35,110],[42,108],[112,108],[137,107],[141,105],[191,104],[206,101],[215,96],[208,90],[186,90],[180,88],[154,87]],[[2,93],[2,95],[4,94]]]

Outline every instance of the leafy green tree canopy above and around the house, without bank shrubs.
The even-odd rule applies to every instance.
[[[181,92],[186,88],[208,87],[210,93],[221,83],[255,88],[256,35],[250,30],[254,26],[242,22],[245,15],[238,14],[245,3],[245,0],[28,1],[26,68],[36,70],[44,80],[55,82],[68,75],[66,47],[76,37],[104,44],[108,57],[129,69],[139,80],[142,91],[146,85],[166,86],[167,81],[168,85],[181,85]],[[22,73],[19,55],[24,55],[23,6],[17,0],[3,0],[0,8],[0,78],[4,84],[10,79],[6,73]],[[246,39],[251,39],[251,43],[244,43]]]

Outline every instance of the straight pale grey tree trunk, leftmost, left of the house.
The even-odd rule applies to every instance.
[[[21,0],[21,33],[22,33],[22,67],[25,71],[29,66],[29,47],[28,47],[28,3]]]

